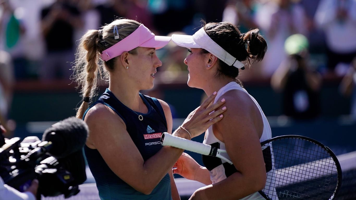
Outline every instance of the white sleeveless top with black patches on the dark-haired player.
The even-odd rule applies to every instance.
[[[242,88],[239,84],[237,84],[236,82],[230,82],[218,91],[218,94],[216,94],[214,103],[220,98],[220,96],[222,96],[223,94],[225,94],[227,91],[230,91],[230,90],[241,90],[241,91],[244,91],[246,94],[248,94],[247,91],[244,88]],[[260,113],[262,116],[263,132],[262,132],[262,136],[260,138],[260,142],[263,142],[263,141],[268,140],[269,138],[272,137],[271,127],[269,126],[267,118],[266,118],[265,114],[263,113],[260,105],[258,105],[255,98],[253,98],[250,94],[248,94],[248,95],[253,100],[253,102],[255,102],[255,104],[258,107],[258,110],[260,110]],[[213,132],[213,126],[210,126],[208,128],[208,130],[206,130],[203,143],[226,150],[225,143],[221,142],[220,140],[218,140],[218,138],[215,137],[214,132]],[[221,153],[221,155],[230,159],[230,157],[227,153]],[[274,163],[273,156],[272,156],[272,161]],[[234,167],[234,165],[231,165],[231,164],[227,163],[225,160],[222,160],[217,157],[203,156],[203,162],[204,162],[205,167],[208,168],[208,170],[210,172],[210,179],[213,182],[213,184],[226,179],[227,177],[229,177],[229,175],[236,172],[236,168]],[[273,169],[274,169],[274,166],[273,166]],[[271,172],[272,171],[274,171],[274,170],[271,170]],[[273,196],[276,196],[276,194],[274,194]],[[253,193],[249,196],[246,196],[245,198],[242,198],[242,200],[259,200],[259,199],[264,199],[264,198],[258,192]]]

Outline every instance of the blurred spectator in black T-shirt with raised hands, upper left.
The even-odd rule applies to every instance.
[[[71,0],[56,0],[41,12],[41,31],[47,54],[40,70],[41,80],[68,79],[74,61],[74,33],[83,25],[80,12]]]

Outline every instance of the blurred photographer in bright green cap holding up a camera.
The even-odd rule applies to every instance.
[[[284,43],[288,54],[271,78],[272,88],[282,93],[283,114],[294,119],[313,119],[320,114],[321,75],[308,63],[308,39],[295,34]]]

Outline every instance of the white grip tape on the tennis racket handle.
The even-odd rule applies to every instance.
[[[211,146],[208,144],[173,136],[167,132],[162,133],[161,144],[163,146],[172,146],[207,156],[210,156],[211,153]]]

